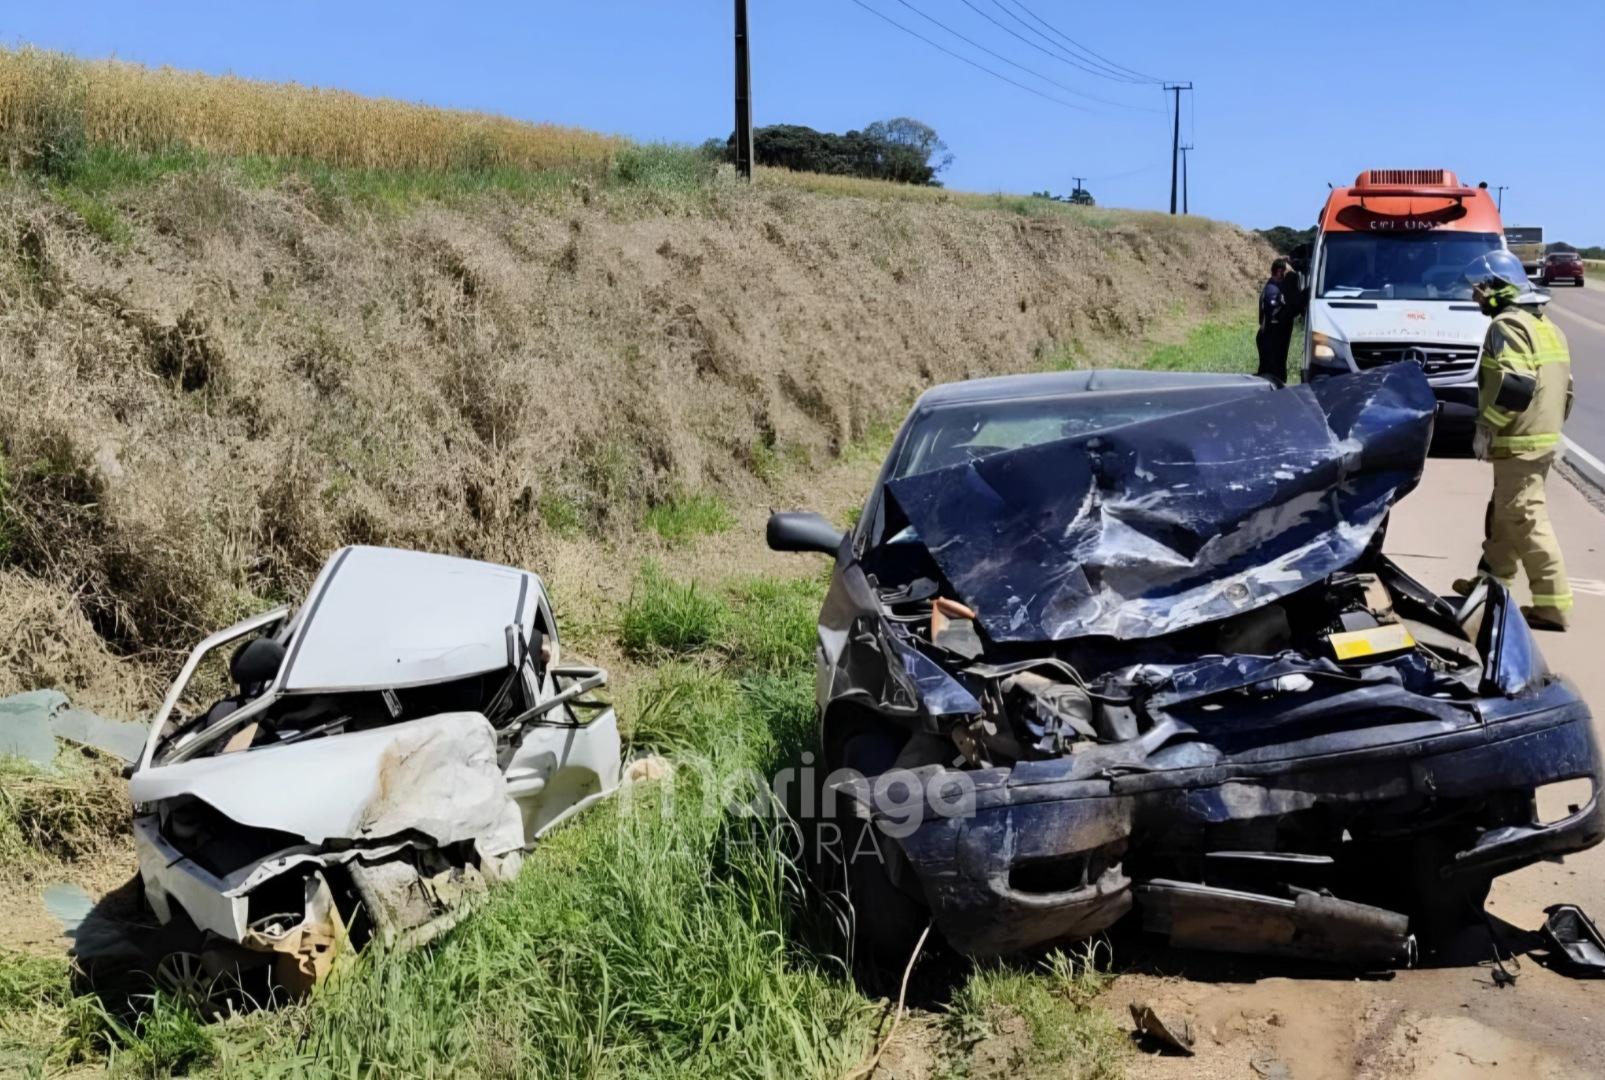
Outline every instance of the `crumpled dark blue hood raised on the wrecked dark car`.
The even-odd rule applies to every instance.
[[[1420,480],[1416,364],[1003,451],[888,483],[995,642],[1156,637],[1353,563]]]

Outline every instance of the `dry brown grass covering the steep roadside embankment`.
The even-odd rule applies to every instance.
[[[706,493],[751,528],[775,462],[817,473],[931,382],[1054,343],[1140,355],[1263,257],[1199,221],[767,183],[371,213],[207,165],[98,199],[125,239],[0,186],[0,629],[45,644],[0,655],[8,685],[79,695],[162,677],[343,542],[621,599],[634,562],[599,541],[650,505]]]

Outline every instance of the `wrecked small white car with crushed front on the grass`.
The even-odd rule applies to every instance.
[[[196,703],[225,658],[231,692]],[[449,929],[618,786],[605,682],[562,661],[536,575],[384,547],[207,637],[130,778],[146,902],[197,931],[160,981],[266,968],[305,990],[342,947]]]

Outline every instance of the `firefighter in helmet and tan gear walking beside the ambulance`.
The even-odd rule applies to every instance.
[[[1560,456],[1560,425],[1571,412],[1571,355],[1560,327],[1544,315],[1549,297],[1533,290],[1515,255],[1478,255],[1465,279],[1477,305],[1493,318],[1477,372],[1473,451],[1494,469],[1478,571],[1510,586],[1517,568],[1525,568],[1533,605],[1522,615],[1533,627],[1563,631],[1571,589],[1549,523],[1544,481]],[[1462,578],[1454,589],[1464,595],[1475,584]]]

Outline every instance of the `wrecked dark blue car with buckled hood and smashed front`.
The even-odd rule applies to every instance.
[[[981,379],[920,398],[851,533],[775,514],[770,547],[835,557],[819,727],[860,955],[1130,916],[1408,964],[1494,876],[1597,844],[1587,706],[1510,595],[1382,554],[1433,412],[1409,364]]]

